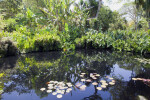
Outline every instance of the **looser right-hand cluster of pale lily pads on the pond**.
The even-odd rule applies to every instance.
[[[101,76],[97,73],[90,73],[89,76],[86,73],[81,73],[80,77],[82,78],[81,82],[92,83],[92,85],[97,86],[97,90],[102,90],[103,88],[106,88],[109,85],[115,85],[115,80],[112,77],[106,76],[105,80],[100,80]],[[77,83],[76,87],[80,90],[85,90],[86,85]]]

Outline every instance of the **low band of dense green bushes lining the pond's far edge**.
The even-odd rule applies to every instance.
[[[146,31],[116,30],[107,33],[89,31],[71,42],[56,33],[28,34],[31,33],[1,33],[3,36],[3,41],[0,43],[1,54],[15,55],[17,52],[70,51],[88,48],[150,53],[150,33]],[[8,37],[9,39],[4,40]]]

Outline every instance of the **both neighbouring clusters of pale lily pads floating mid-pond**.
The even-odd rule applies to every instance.
[[[90,76],[86,73],[81,73],[81,82],[92,83],[92,85],[97,86],[97,90],[102,90],[109,85],[114,85],[115,80],[112,77],[106,76],[106,80],[100,80],[101,76],[97,73],[90,73]],[[52,93],[52,95],[57,95],[57,98],[62,98],[63,94],[69,93],[72,91],[72,87],[74,86],[72,83],[58,82],[58,81],[50,81],[47,82],[47,88],[41,88],[41,91],[46,91],[47,93]],[[85,90],[86,85],[77,83],[75,85],[76,88],[80,90]]]

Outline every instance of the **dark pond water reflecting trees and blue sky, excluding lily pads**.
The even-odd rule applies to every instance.
[[[73,87],[62,100],[138,100],[139,96],[150,100],[150,87],[132,78],[150,78],[150,65],[137,61],[140,55],[118,52],[76,51],[70,54],[61,52],[34,53],[0,59],[0,98],[2,100],[57,100],[57,95],[41,91],[49,81],[70,82]],[[149,67],[149,68],[148,68]],[[115,85],[97,90],[92,82],[81,82],[90,73],[101,76],[93,80],[107,80],[113,77]],[[110,80],[108,80],[110,81]],[[86,85],[80,90],[75,85]],[[54,90],[53,90],[54,91]],[[59,99],[58,99],[59,100]]]

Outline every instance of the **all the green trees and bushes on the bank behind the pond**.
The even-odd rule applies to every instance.
[[[144,3],[133,3],[138,5],[135,11],[142,9],[144,14],[135,14],[131,24],[99,2],[0,1],[0,55],[77,48],[150,53],[149,10]]]

